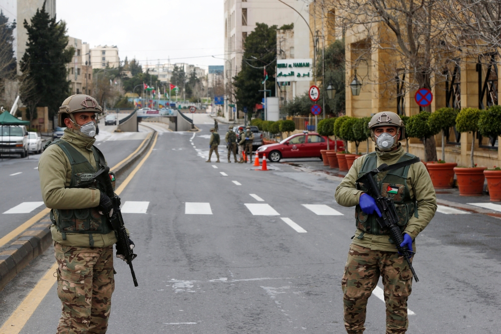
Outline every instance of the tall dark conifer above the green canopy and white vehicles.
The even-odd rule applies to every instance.
[[[45,3],[41,10],[37,9],[31,24],[25,20],[23,25],[28,42],[20,67],[28,79],[25,84],[34,85],[34,93],[27,104],[31,109],[48,106],[49,118],[52,118],[70,95],[66,64],[72,60],[75,50],[73,47],[66,49],[66,24],[50,17],[45,11]]]

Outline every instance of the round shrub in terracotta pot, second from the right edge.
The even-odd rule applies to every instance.
[[[456,130],[459,132],[471,132],[471,167],[456,167],[454,173],[457,178],[460,196],[480,196],[483,191],[484,167],[477,167],[473,160],[475,147],[475,132],[478,131],[478,120],[482,112],[477,108],[463,108],[456,117]]]

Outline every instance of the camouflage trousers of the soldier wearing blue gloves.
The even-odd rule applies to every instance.
[[[371,250],[350,245],[343,288],[344,322],[349,334],[365,330],[367,299],[383,278],[386,303],[386,334],[404,334],[407,331],[407,298],[412,292],[412,272],[407,261],[397,252]]]

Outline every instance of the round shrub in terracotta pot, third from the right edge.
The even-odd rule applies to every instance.
[[[442,158],[438,163],[428,162],[426,168],[430,174],[433,187],[436,189],[448,189],[454,185],[455,162],[445,162],[445,131],[456,124],[457,110],[453,108],[440,108],[428,117],[428,126],[431,132],[442,132]]]

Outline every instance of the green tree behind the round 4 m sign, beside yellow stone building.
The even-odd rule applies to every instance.
[[[346,105],[345,97],[345,42],[336,40],[326,47],[324,51],[325,63],[322,56],[317,62],[317,80],[323,80],[320,84],[320,98],[325,98],[325,112],[338,115],[344,112]],[[325,71],[323,71],[325,69]],[[336,89],[336,95],[332,100],[327,97],[326,88],[332,85]]]

